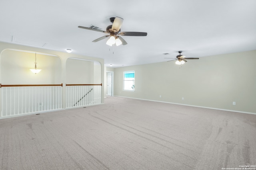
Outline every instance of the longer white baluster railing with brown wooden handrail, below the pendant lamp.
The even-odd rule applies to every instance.
[[[2,85],[0,117],[62,109],[62,84]]]

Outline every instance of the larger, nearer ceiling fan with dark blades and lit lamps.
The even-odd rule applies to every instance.
[[[103,32],[103,33],[107,33],[109,35],[105,35],[103,37],[100,37],[98,39],[95,39],[92,42],[97,42],[100,41],[102,39],[108,38],[108,41],[106,42],[107,45],[114,45],[116,44],[116,46],[118,45],[126,45],[127,42],[120,36],[147,36],[147,33],[144,32],[121,32],[121,26],[122,23],[124,21],[124,19],[120,18],[120,17],[112,17],[109,19],[111,23],[113,23],[112,25],[108,25],[108,27],[106,28],[106,31],[102,31],[100,29],[94,29],[94,28],[89,28],[89,27],[82,27],[82,26],[78,26],[79,28],[84,28],[84,29],[89,29],[92,31],[99,31],[99,32]]]

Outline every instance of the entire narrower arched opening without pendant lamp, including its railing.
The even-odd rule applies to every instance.
[[[66,61],[66,108],[102,103],[102,70],[98,61],[68,58]]]

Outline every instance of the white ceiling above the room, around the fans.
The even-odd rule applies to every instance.
[[[124,19],[122,31],[148,35],[122,36],[128,45],[110,47],[107,39],[92,42],[107,34],[78,28],[105,30],[116,16]],[[0,41],[72,49],[120,67],[168,61],[178,51],[204,57],[255,50],[256,0],[1,0],[0,25]]]

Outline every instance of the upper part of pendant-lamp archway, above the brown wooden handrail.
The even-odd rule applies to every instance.
[[[30,68],[42,69],[35,74]],[[5,49],[1,53],[2,84],[61,84],[61,60],[56,55],[37,51]]]

